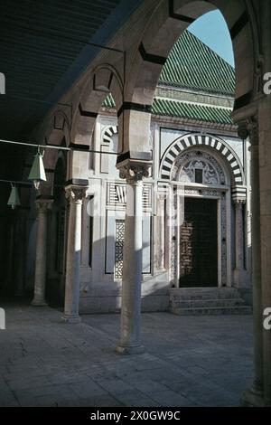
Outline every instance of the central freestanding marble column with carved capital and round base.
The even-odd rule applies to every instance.
[[[143,177],[148,175],[144,163],[128,161],[120,168],[126,178],[126,229],[122,278],[120,342],[117,351],[123,354],[143,353],[140,340],[142,285],[142,220]]]

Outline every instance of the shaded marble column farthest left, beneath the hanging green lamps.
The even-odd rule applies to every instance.
[[[51,209],[49,199],[38,199],[36,207],[38,210],[38,229],[36,240],[36,260],[35,260],[35,280],[34,280],[34,297],[32,306],[46,306],[45,286],[47,271],[47,222],[48,212]]]

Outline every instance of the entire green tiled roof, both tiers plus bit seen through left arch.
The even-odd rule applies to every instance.
[[[234,69],[189,31],[175,42],[160,75],[159,84],[233,96]],[[103,104],[115,108],[111,94]],[[187,103],[177,99],[154,98],[152,113],[167,117],[232,124],[231,110]]]

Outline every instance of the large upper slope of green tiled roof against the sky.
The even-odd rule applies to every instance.
[[[173,45],[159,83],[233,94],[234,68],[189,31]]]

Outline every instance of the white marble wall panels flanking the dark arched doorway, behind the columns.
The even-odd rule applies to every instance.
[[[94,132],[93,146],[97,150],[110,149],[112,152],[117,152],[120,148],[117,146],[117,135],[112,136],[111,143],[105,147],[104,135],[108,127],[117,126],[117,118],[115,117],[98,117],[98,122]],[[161,252],[161,240],[164,240],[164,265],[166,267],[166,258],[168,257],[168,243],[166,243],[166,233],[161,237],[157,226],[161,226],[161,217],[157,216],[157,193],[155,187],[159,180],[159,167],[160,158],[163,156],[164,151],[170,146],[173,141],[184,134],[189,132],[201,131],[201,128],[189,126],[164,126],[164,123],[159,123],[154,120],[151,126],[151,140],[154,154],[154,167],[153,175],[145,179],[145,184],[151,184],[152,189],[152,202],[151,208],[145,210],[143,222],[143,309],[144,310],[165,310],[168,307],[168,288],[169,288],[169,273],[167,269],[162,269],[161,264],[157,260],[159,252]],[[214,134],[215,130],[209,133]],[[246,172],[248,171],[248,153],[243,152],[242,142],[235,134],[230,135],[229,131],[225,131],[225,135],[219,135],[223,138],[230,147],[232,147],[238,158],[243,164],[245,161]],[[102,148],[101,148],[102,147]],[[246,147],[247,149],[247,147]],[[116,220],[124,220],[125,218],[125,204],[117,204],[117,210],[110,204],[110,197],[108,194],[110,184],[123,184],[119,179],[116,168],[117,156],[103,156],[94,155],[91,162],[92,167],[89,166],[89,191],[88,194],[94,195],[95,212],[93,217],[93,231],[92,231],[92,261],[91,267],[86,259],[89,259],[89,211],[88,203],[84,204],[83,222],[82,222],[82,258],[81,264],[81,293],[80,293],[80,311],[81,312],[107,312],[116,311],[120,308],[121,303],[121,280],[115,279],[114,265],[115,265],[115,244],[116,244]],[[90,163],[89,163],[90,164]],[[110,198],[110,199],[109,199]],[[109,199],[109,201],[108,201]],[[249,194],[248,194],[249,200]],[[93,208],[93,207],[92,207]],[[234,211],[234,210],[233,210]],[[246,230],[245,242],[249,245],[249,209],[245,207]],[[93,213],[93,211],[92,211]],[[230,212],[229,212],[230,213]],[[230,218],[229,218],[230,222]],[[234,217],[232,217],[234,222]],[[230,226],[229,226],[230,227]],[[229,233],[234,231],[228,229]],[[232,235],[233,237],[234,235]],[[231,239],[232,239],[231,237]],[[233,238],[234,239],[234,238]],[[229,248],[230,250],[230,248]],[[229,261],[229,267],[234,267],[234,252],[235,246],[232,244]],[[249,264],[249,247],[245,251],[246,263]],[[249,283],[249,271],[246,277]],[[232,279],[233,280],[233,279]]]

